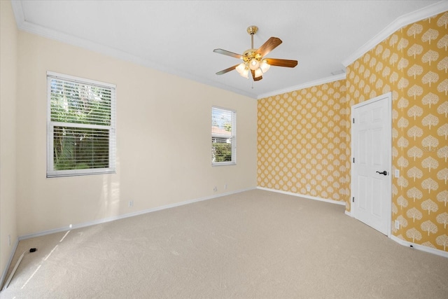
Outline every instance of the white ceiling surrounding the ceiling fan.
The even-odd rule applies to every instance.
[[[447,4],[430,0],[12,2],[18,27],[27,32],[253,98],[343,76],[342,62],[389,25],[409,13]],[[259,27],[254,48],[276,36],[283,43],[266,57],[298,60],[297,67],[271,67],[258,82],[242,78],[237,71],[217,76],[217,71],[239,60],[213,50],[242,54],[251,48],[249,25]]]

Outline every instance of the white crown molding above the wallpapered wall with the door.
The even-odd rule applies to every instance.
[[[448,1],[446,0],[431,4],[430,6],[426,6],[425,8],[421,8],[412,13],[402,15],[401,17],[393,21],[390,25],[388,25],[388,27],[379,32],[379,34],[370,39],[370,41],[367,41],[367,43],[356,50],[355,53],[347,57],[346,60],[342,62],[342,64],[344,65],[344,67],[348,67],[355,60],[370,51],[372,48],[374,48],[374,46],[377,46],[379,43],[381,43],[381,41],[384,41],[384,39],[387,39],[388,36],[391,36],[401,27],[432,17],[433,15],[437,15],[438,13],[443,13],[444,11],[448,11]]]

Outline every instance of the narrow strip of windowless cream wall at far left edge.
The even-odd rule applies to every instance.
[[[8,260],[18,239],[15,212],[17,47],[18,30],[10,1],[0,1],[0,273],[2,276],[6,274],[4,272]],[[11,239],[10,244],[8,236]]]

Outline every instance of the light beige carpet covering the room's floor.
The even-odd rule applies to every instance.
[[[11,268],[24,251],[2,299],[448,298],[447,258],[265,190],[23,240]]]

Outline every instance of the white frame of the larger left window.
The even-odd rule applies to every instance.
[[[84,176],[92,174],[115,174],[116,173],[116,85],[94,81],[86,78],[59,74],[47,71],[47,178],[61,176]],[[111,125],[88,125],[83,123],[62,123],[51,120],[51,81],[52,79],[71,81],[74,83],[94,85],[107,88],[111,91]],[[55,170],[54,161],[54,127],[73,127],[80,129],[109,130],[109,167],[87,168],[87,169],[65,169]]]

